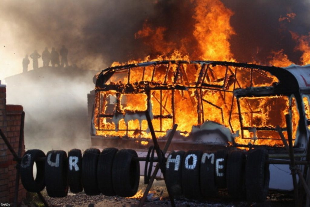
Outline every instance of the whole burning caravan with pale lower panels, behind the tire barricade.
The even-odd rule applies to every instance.
[[[152,143],[145,111],[161,147],[178,124],[169,151],[264,147],[269,158],[284,154],[276,126],[287,139],[286,114],[294,153],[305,154],[309,148],[310,66],[221,61],[122,65],[102,70],[88,98],[92,146],[101,149],[146,154]],[[270,189],[293,190],[288,164],[270,164],[269,169]]]

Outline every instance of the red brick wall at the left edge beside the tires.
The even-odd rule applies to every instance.
[[[0,82],[0,128],[7,137],[15,152],[18,153],[21,113],[23,107],[19,105],[6,105],[6,87]],[[22,145],[22,155],[24,154],[24,142]],[[16,162],[13,155],[8,150],[7,145],[0,138],[0,201],[1,203],[14,202]],[[20,182],[18,202],[26,197],[26,191]]]

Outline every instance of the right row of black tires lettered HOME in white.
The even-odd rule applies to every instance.
[[[166,161],[166,184],[173,196],[206,200],[227,188],[230,197],[263,202],[269,187],[268,151],[173,151]]]

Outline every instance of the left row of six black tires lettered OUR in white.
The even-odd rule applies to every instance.
[[[64,197],[70,191],[84,189],[87,195],[134,196],[140,179],[137,153],[131,149],[87,149],[83,156],[78,149],[49,151],[28,150],[20,164],[20,177],[24,188],[30,192],[42,191],[45,187],[50,197]],[[37,174],[33,177],[33,166]]]

